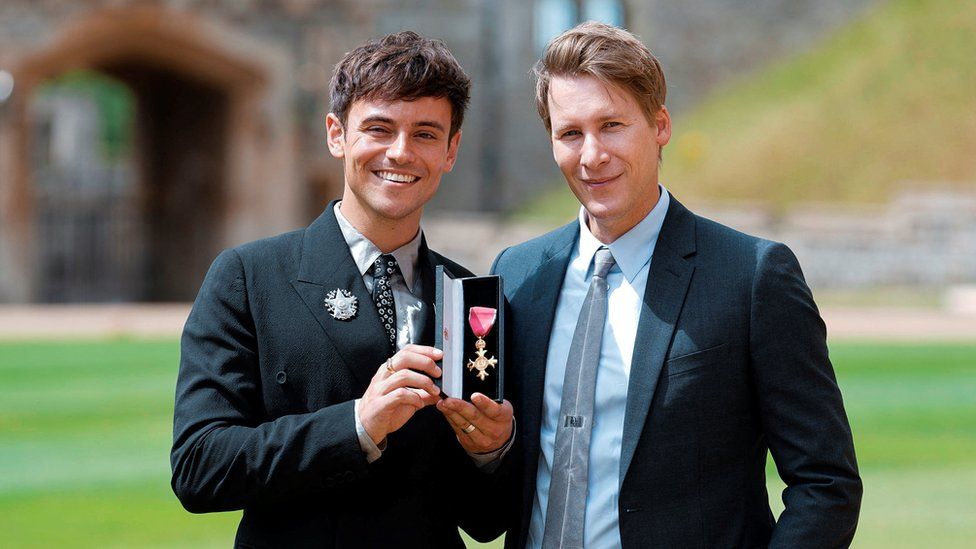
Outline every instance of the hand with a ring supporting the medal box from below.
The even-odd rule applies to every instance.
[[[471,454],[494,452],[512,437],[512,404],[500,404],[481,393],[471,395],[471,402],[448,398],[437,403],[458,437]],[[471,429],[473,426],[474,429]]]

